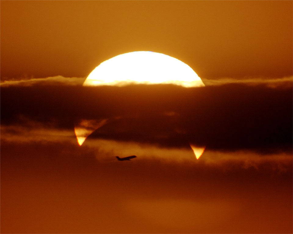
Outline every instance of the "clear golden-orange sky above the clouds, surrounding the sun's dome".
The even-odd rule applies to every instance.
[[[292,75],[292,1],[1,1],[1,79],[85,77],[121,53],[200,77]]]

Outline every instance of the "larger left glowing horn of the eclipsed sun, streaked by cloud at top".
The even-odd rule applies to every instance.
[[[74,132],[78,144],[81,146],[85,139],[92,134],[93,131],[107,124],[107,119],[101,121],[81,120],[75,127]]]

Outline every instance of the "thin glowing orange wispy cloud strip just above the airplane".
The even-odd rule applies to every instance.
[[[234,167],[259,170],[266,164],[271,171],[286,171],[292,164],[291,153],[276,151],[260,154],[256,151],[222,151],[206,149],[199,160],[195,160],[190,147],[164,147],[157,143],[142,143],[102,138],[89,138],[78,146],[74,129],[54,128],[53,125],[35,121],[22,121],[22,124],[1,125],[1,144],[18,145],[56,145],[68,155],[91,155],[98,161],[113,161],[114,156],[137,155],[138,160],[160,160],[162,162],[187,162],[198,167],[221,167],[230,170]],[[62,146],[61,146],[62,145]],[[33,147],[32,147],[33,148]]]

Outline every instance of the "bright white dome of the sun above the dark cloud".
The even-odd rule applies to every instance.
[[[115,56],[96,67],[84,86],[125,86],[131,84],[174,84],[201,87],[201,78],[179,59],[150,52],[135,51]]]

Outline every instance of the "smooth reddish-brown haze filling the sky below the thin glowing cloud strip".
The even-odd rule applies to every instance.
[[[292,231],[290,159],[111,158],[89,145],[1,140],[1,232]]]

